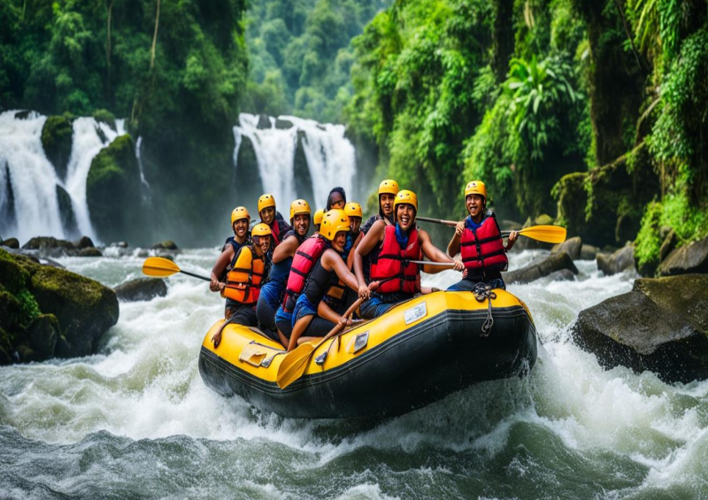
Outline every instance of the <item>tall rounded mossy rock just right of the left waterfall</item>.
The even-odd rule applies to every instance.
[[[121,135],[91,162],[86,181],[91,221],[105,242],[135,238],[141,219],[140,169],[130,135]]]

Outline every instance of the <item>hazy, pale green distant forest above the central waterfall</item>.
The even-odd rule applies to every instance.
[[[389,0],[268,0],[251,6],[243,111],[341,120],[352,37]]]

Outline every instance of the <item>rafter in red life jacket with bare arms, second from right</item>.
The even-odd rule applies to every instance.
[[[377,220],[354,252],[354,271],[357,274],[358,295],[371,297],[361,304],[361,316],[376,318],[389,311],[394,305],[412,298],[417,293],[428,293],[429,288],[420,286],[420,266],[410,262],[421,260],[423,256],[433,262],[448,262],[457,271],[464,266],[435,248],[430,235],[419,229],[415,223],[418,212],[418,197],[409,190],[399,191],[394,202],[396,225],[387,226]],[[381,286],[372,293],[366,285],[363,258],[377,251],[378,258],[371,266],[371,280],[381,281]],[[437,273],[440,266],[425,266],[427,273]]]

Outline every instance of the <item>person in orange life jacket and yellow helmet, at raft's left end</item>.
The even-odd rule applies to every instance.
[[[257,327],[256,304],[260,295],[261,282],[267,274],[270,263],[267,260],[271,248],[271,228],[260,223],[250,232],[252,244],[244,244],[236,254],[234,267],[227,273],[226,282],[221,282],[212,291],[220,291],[226,297],[227,304],[224,316],[226,321],[219,331],[212,336],[214,347],[219,347],[221,331],[228,323],[236,323],[247,327]],[[273,338],[273,340],[278,340]]]

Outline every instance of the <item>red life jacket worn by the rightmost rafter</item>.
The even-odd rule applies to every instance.
[[[459,251],[462,254],[462,263],[475,273],[505,271],[509,265],[502,242],[502,232],[494,215],[482,220],[477,229],[470,230],[465,227],[460,237]]]

